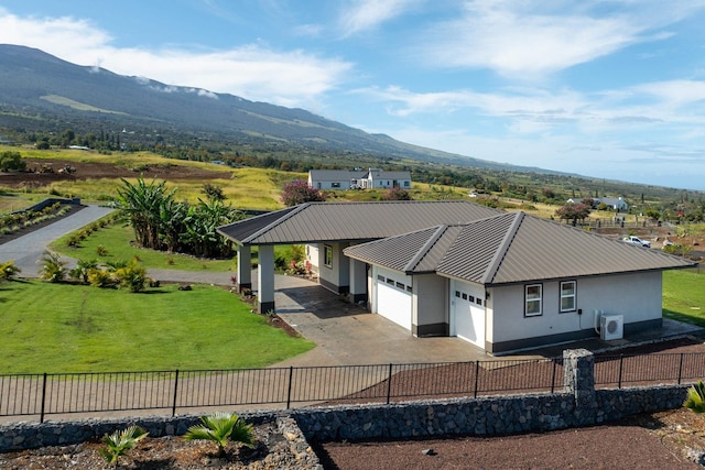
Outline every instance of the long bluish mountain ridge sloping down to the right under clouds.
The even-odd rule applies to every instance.
[[[0,125],[51,116],[100,121],[119,130],[147,129],[207,134],[247,142],[350,153],[389,160],[448,163],[488,170],[556,173],[451,154],[371,134],[303,109],[250,101],[234,95],[166,85],[149,78],[79,66],[40,50],[0,45]]]

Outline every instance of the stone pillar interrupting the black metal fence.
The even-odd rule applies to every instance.
[[[575,398],[575,425],[595,424],[595,357],[587,349],[567,349],[563,351],[563,371],[565,392]]]

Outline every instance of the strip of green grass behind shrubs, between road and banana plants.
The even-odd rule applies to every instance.
[[[134,239],[131,227],[122,223],[113,225],[91,233],[79,247],[68,247],[70,233],[53,242],[50,248],[62,255],[77,260],[98,260],[99,263],[109,261],[130,261],[135,258],[148,269],[180,270],[180,271],[236,271],[235,260],[203,260],[185,254],[166,253],[164,251],[143,250],[130,244]],[[106,247],[107,255],[98,255],[98,245]]]

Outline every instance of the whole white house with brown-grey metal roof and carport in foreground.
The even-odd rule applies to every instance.
[[[273,245],[305,243],[324,287],[415,336],[491,353],[659,327],[662,271],[695,265],[460,200],[308,203],[218,231],[238,244],[242,287],[258,247],[260,311],[275,309]]]

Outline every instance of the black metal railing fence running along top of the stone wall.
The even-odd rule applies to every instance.
[[[596,385],[690,383],[705,353],[598,356]],[[0,416],[238,405],[390,403],[411,398],[554,392],[563,360],[0,375]]]

